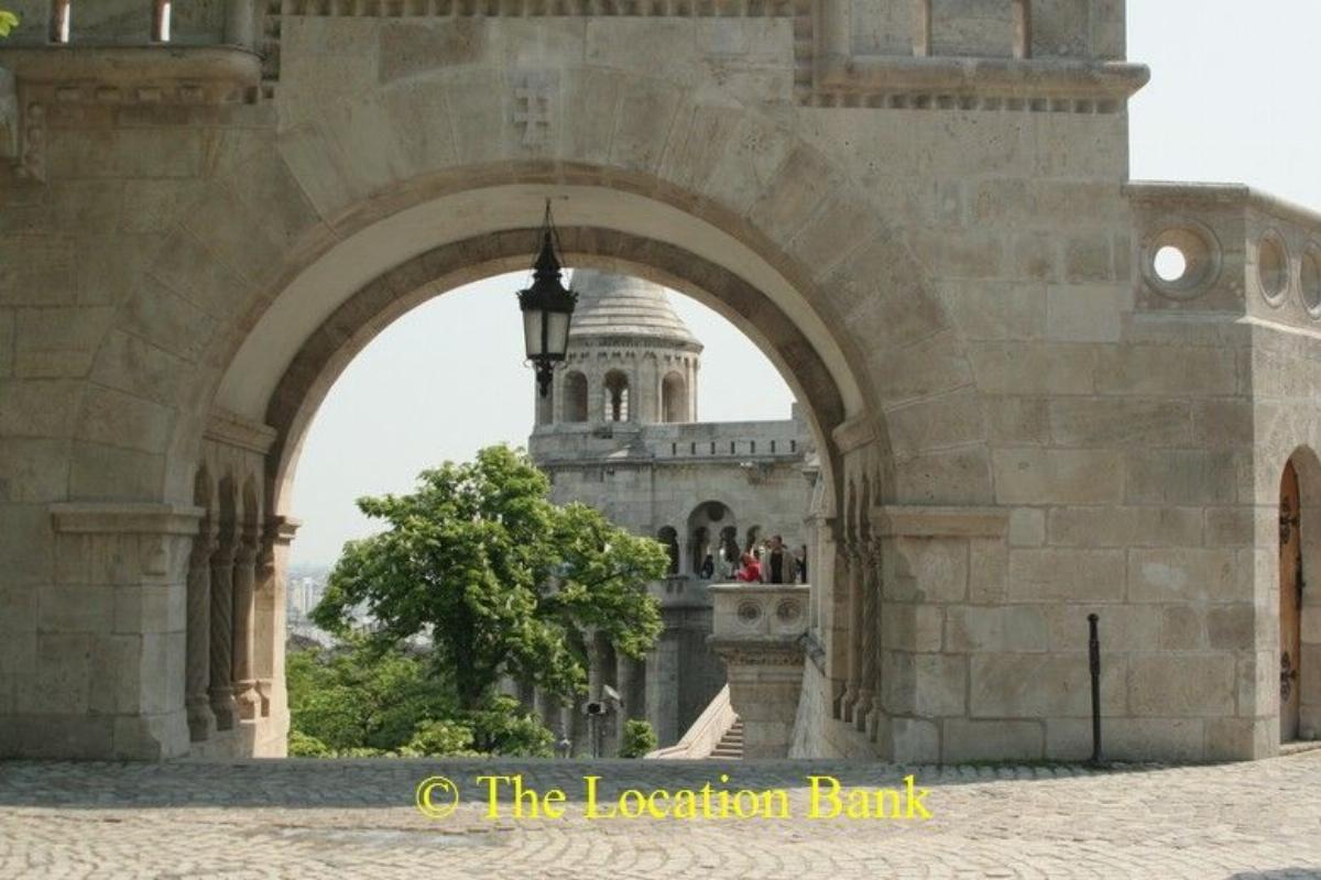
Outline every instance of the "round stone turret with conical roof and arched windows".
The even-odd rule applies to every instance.
[[[579,294],[564,369],[536,425],[697,421],[701,343],[666,289],[590,269],[573,272]]]

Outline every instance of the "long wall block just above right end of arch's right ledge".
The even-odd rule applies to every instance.
[[[1115,451],[995,450],[991,460],[1003,504],[1110,504],[1123,497],[1123,456]]]

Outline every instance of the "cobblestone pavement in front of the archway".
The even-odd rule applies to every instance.
[[[930,789],[926,822],[804,818],[808,774]],[[486,817],[483,773],[567,792],[563,819]],[[723,785],[720,774],[731,782]],[[589,819],[627,788],[790,792],[791,818]],[[452,778],[431,819],[417,784]],[[443,803],[436,796],[432,803]],[[0,877],[1321,877],[1321,752],[1189,768],[843,763],[0,763]]]

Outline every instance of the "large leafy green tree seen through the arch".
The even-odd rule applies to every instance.
[[[450,678],[462,712],[489,710],[506,674],[561,699],[581,693],[589,628],[633,657],[660,632],[645,584],[667,570],[664,548],[588,507],[552,504],[520,451],[483,449],[424,471],[411,495],[358,508],[386,529],[345,545],[312,619],[347,633],[366,611],[376,645],[428,636],[432,672]]]

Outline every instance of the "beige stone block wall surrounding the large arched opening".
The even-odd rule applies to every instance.
[[[262,63],[0,49],[20,129],[0,166],[3,751],[188,751],[180,517],[213,417],[267,426],[277,530],[343,365],[437,290],[526,267],[556,198],[573,265],[719,306],[803,404],[830,501],[823,691],[802,705],[834,726],[804,749],[1079,756],[1096,611],[1114,753],[1275,753],[1276,504],[1299,456],[1309,534],[1321,222],[1125,189],[1147,71],[1122,61],[1123,4],[1033,4],[1025,59],[1003,49],[1009,3],[933,3],[933,49],[975,58],[893,54],[868,34],[901,25],[840,0],[535,5],[284,4]],[[1176,281],[1153,274],[1166,244],[1192,267]],[[92,583],[133,607],[85,603]],[[94,705],[107,670],[114,707]]]

